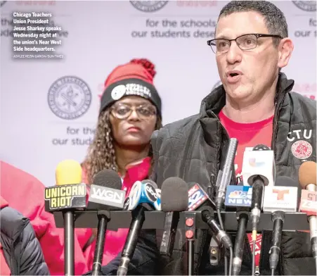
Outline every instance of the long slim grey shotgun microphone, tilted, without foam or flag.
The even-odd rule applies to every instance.
[[[237,152],[237,146],[238,146],[238,139],[231,138],[228,146],[226,161],[224,163],[224,168],[221,172],[221,175],[218,175],[218,177],[221,177],[220,180],[218,180],[217,184],[219,184],[218,187],[218,194],[216,196],[216,209],[221,210],[222,204],[224,203],[224,197],[226,195],[226,187],[231,181],[232,174],[235,172],[233,171],[233,162],[235,159],[235,153]],[[219,218],[220,219],[220,218]]]

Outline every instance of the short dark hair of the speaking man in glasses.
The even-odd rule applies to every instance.
[[[264,17],[264,23],[270,35],[288,37],[288,27],[285,15],[280,9],[269,1],[231,1],[221,9],[218,21],[221,17],[232,13],[255,11]],[[273,38],[274,45],[280,40]]]

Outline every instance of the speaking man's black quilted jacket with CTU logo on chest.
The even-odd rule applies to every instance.
[[[302,162],[316,162],[316,101],[291,92],[293,85],[293,80],[287,80],[283,73],[280,74],[271,148],[275,153],[276,175],[285,175],[298,181],[298,169]],[[166,125],[153,133],[153,180],[159,188],[164,180],[174,176],[186,182],[198,182],[205,190],[209,184],[215,186],[216,177],[213,175],[218,175],[224,165],[228,147],[228,134],[218,118],[219,111],[225,105],[225,95],[224,87],[217,87],[203,99],[198,115]],[[157,244],[160,244],[161,234],[157,231]],[[268,253],[271,232],[265,231],[262,234],[260,273],[271,275]],[[143,244],[145,239],[155,243],[155,237],[150,233],[140,239]],[[206,231],[198,231],[195,242],[195,275],[224,273],[223,263],[213,267],[209,265],[209,240],[210,235]],[[186,239],[181,231],[176,235],[172,260],[157,258],[157,247],[149,249],[143,244],[137,246],[131,261],[132,264],[138,263],[137,269],[135,265],[131,266],[129,275],[186,275]],[[252,259],[248,242],[244,250],[240,274],[251,275]],[[118,260],[112,261],[103,268],[103,272],[115,274],[117,263]],[[280,265],[276,274],[316,275],[309,234],[283,232]]]

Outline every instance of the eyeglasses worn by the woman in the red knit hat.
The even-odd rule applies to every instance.
[[[141,120],[148,120],[152,116],[156,115],[155,106],[150,104],[131,106],[127,103],[115,103],[115,105],[111,107],[111,114],[119,120],[129,118],[133,111],[136,111],[138,118],[140,118]]]

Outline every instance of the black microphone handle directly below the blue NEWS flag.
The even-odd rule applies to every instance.
[[[240,275],[241,264],[242,264],[242,254],[243,248],[245,246],[245,232],[247,230],[247,222],[249,220],[248,211],[237,211],[238,218],[238,232],[235,239],[235,248],[234,248],[234,257],[233,257],[233,266],[232,273],[233,276]]]

